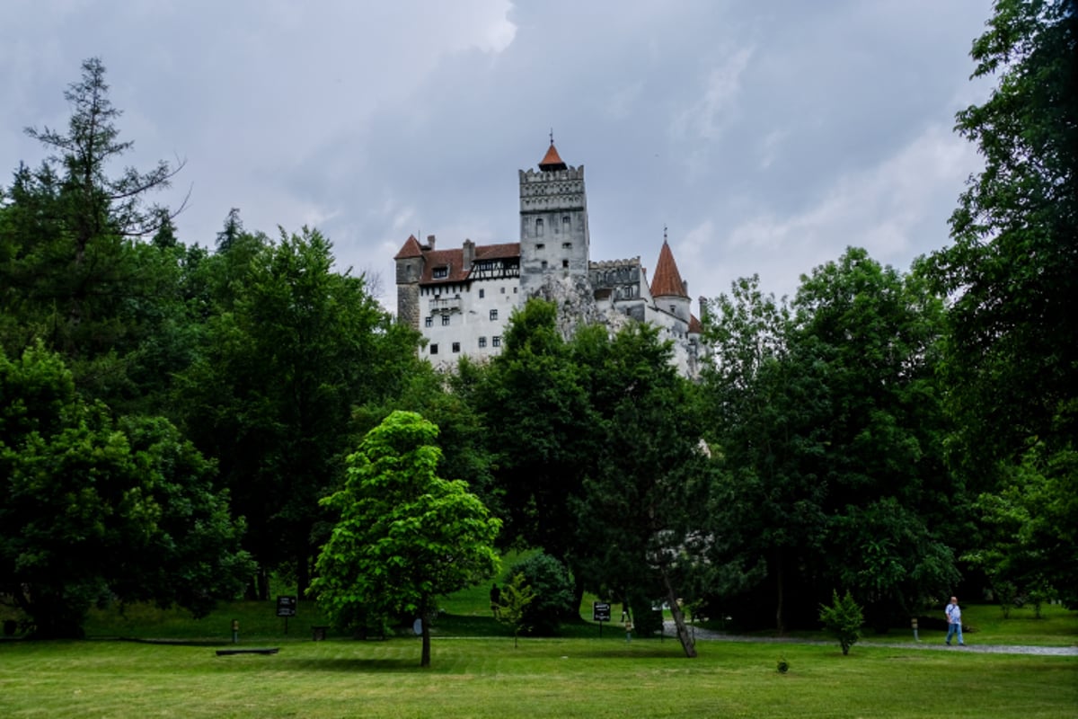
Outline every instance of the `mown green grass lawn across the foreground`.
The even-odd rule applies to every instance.
[[[87,625],[98,638],[0,641],[0,717],[1078,718],[1078,656],[896,649],[870,635],[849,656],[837,645],[700,641],[688,660],[674,639],[626,644],[617,625],[600,639],[583,621],[567,638],[514,649],[510,630],[489,618],[486,589],[445,600],[429,669],[418,666],[415,637],[312,641],[310,625],[324,618],[307,603],[287,635],[273,603],[234,603],[197,622],[147,607],[98,612]],[[971,645],[1078,644],[1078,613],[1059,607],[1041,620],[965,610],[978,628]],[[217,656],[233,647],[232,619],[239,647],[280,652]],[[116,636],[181,642],[106,638]],[[788,674],[776,670],[779,655]]]

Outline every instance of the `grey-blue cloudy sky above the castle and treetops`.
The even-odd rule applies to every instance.
[[[585,166],[592,259],[690,294],[776,294],[851,245],[908,268],[948,241],[983,99],[991,0],[3,0],[0,185],[66,128],[100,57],[127,164],[186,163],[158,201],[186,244],[308,224],[381,277],[410,234],[519,240],[517,169]],[[120,168],[116,168],[118,170]]]

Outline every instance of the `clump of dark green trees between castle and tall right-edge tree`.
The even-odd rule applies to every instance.
[[[765,571],[782,632],[799,585],[849,586],[886,626],[955,581],[964,497],[943,461],[942,303],[924,280],[851,248],[789,307],[754,278],[711,308],[716,589]]]

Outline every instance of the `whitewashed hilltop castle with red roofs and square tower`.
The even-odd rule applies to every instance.
[[[437,249],[434,235],[426,244],[413,235],[393,258],[397,318],[423,333],[420,354],[440,368],[461,355],[497,355],[513,309],[541,296],[557,303],[566,336],[582,322],[654,324],[672,341],[678,369],[695,376],[701,323],[665,231],[649,284],[639,257],[591,260],[584,167],[566,165],[553,138],[538,170],[520,170],[520,185],[521,241]]]

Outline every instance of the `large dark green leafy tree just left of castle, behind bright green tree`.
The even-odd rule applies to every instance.
[[[416,336],[364,277],[333,271],[332,245],[316,230],[282,231],[277,243],[238,233],[202,265],[210,314],[178,382],[183,425],[220,459],[248,517],[258,595],[277,568],[302,592],[328,530],[318,500],[341,482],[353,407],[399,391]]]

